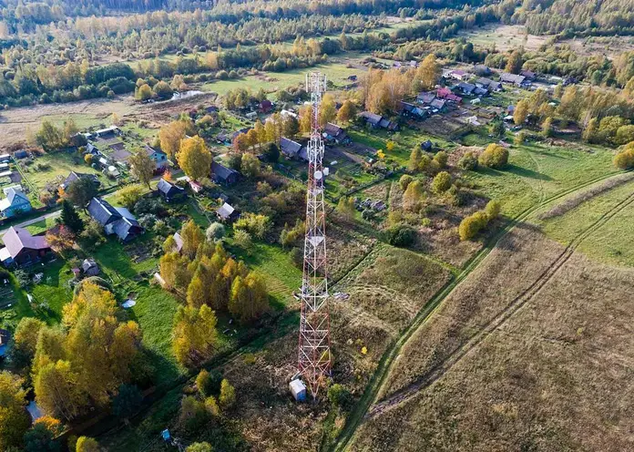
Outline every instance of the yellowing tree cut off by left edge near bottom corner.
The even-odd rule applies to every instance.
[[[26,412],[24,380],[7,371],[0,372],[0,449],[18,447],[31,425]]]

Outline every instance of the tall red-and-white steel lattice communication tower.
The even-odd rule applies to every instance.
[[[330,377],[330,316],[326,272],[326,215],[323,202],[323,141],[319,125],[319,106],[326,90],[326,77],[319,72],[306,75],[311,93],[312,126],[308,142],[308,190],[306,194],[306,235],[302,277],[302,315],[300,318],[299,372],[317,397]]]

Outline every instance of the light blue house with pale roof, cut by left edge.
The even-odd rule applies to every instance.
[[[26,229],[12,226],[2,236],[5,248],[0,249],[0,261],[5,266],[26,265],[39,262],[51,248],[46,238],[41,235],[33,236]]]

